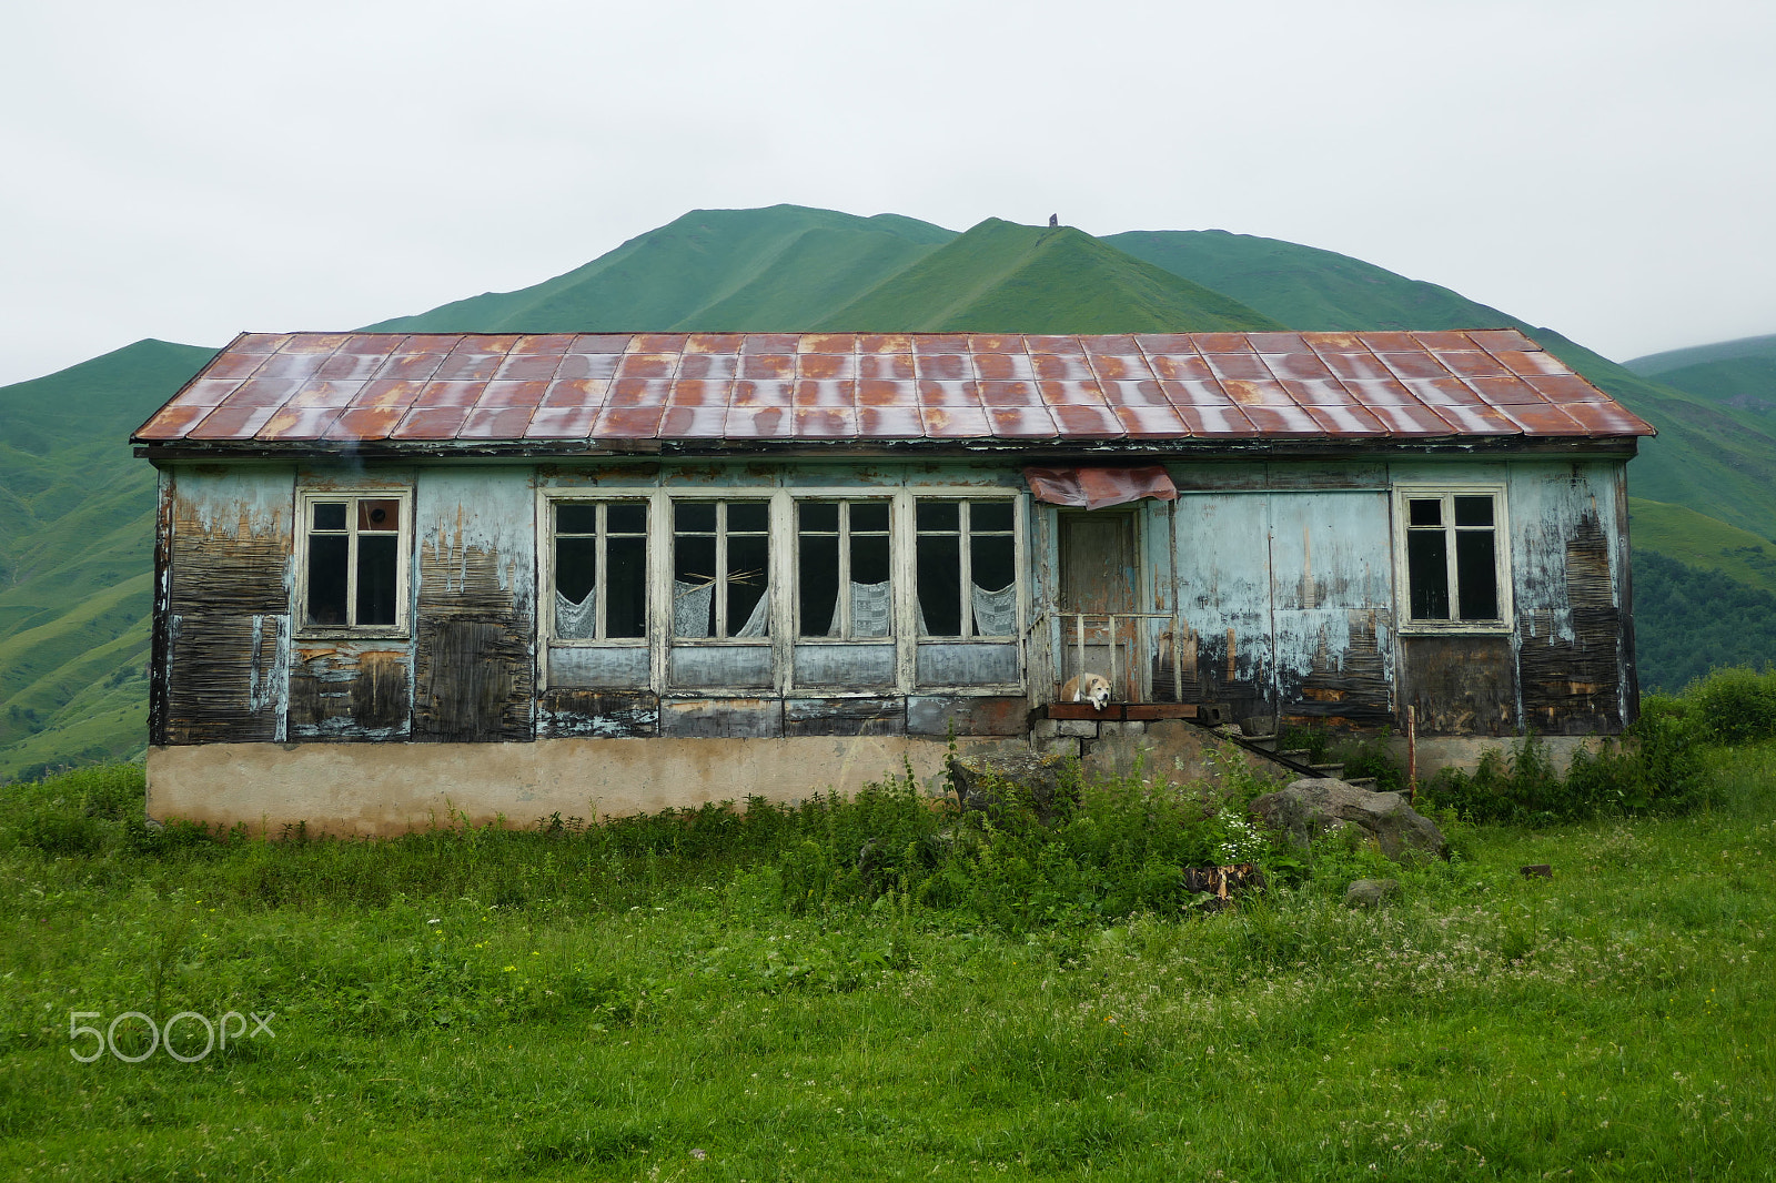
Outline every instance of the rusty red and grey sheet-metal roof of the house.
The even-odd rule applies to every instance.
[[[1653,428],[1517,330],[242,334],[137,433],[330,451],[1213,444]]]

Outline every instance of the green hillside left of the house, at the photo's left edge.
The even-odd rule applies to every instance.
[[[213,353],[137,341],[0,387],[0,780],[147,742],[155,471],[128,437]]]

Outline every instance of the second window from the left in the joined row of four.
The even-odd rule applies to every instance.
[[[769,643],[771,503],[684,497],[671,520],[673,639]]]

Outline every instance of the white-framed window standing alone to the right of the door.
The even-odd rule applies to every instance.
[[[1398,487],[1394,531],[1401,629],[1510,631],[1502,485]]]

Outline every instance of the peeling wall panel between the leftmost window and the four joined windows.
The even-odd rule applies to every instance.
[[[428,471],[414,494],[416,739],[536,735],[536,497],[527,469]]]

